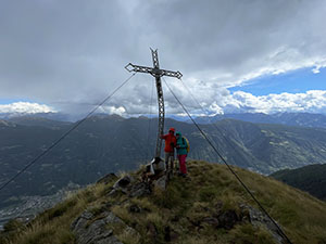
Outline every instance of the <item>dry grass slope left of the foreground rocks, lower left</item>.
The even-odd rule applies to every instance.
[[[24,231],[9,234],[3,244],[73,244],[74,234],[70,230],[72,221],[88,206],[98,206],[108,185],[98,184],[80,190],[74,195],[46,210],[28,224]],[[93,207],[95,209],[96,207]]]

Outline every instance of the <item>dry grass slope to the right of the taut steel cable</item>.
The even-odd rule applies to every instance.
[[[272,178],[242,169],[238,172],[294,243],[326,241],[325,202]]]

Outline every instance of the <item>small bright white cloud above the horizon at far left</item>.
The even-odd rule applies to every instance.
[[[11,104],[0,104],[0,114],[37,114],[57,113],[52,107],[29,102],[15,102]]]

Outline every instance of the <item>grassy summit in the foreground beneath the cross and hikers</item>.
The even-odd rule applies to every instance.
[[[7,224],[0,243],[75,243],[72,222],[85,210],[93,215],[91,224],[112,211],[124,221],[108,230],[128,244],[147,243],[275,243],[264,226],[253,226],[241,206],[258,208],[235,177],[223,165],[189,162],[189,179],[174,177],[166,191],[130,197],[123,192],[109,196],[114,181],[82,190],[54,208],[23,226]],[[293,243],[326,243],[326,203],[244,169],[234,168],[262,205],[283,227]],[[131,176],[138,180],[140,171]],[[216,216],[231,213],[236,221],[216,223]],[[216,218],[215,218],[216,217]],[[125,231],[125,226],[136,232]]]

